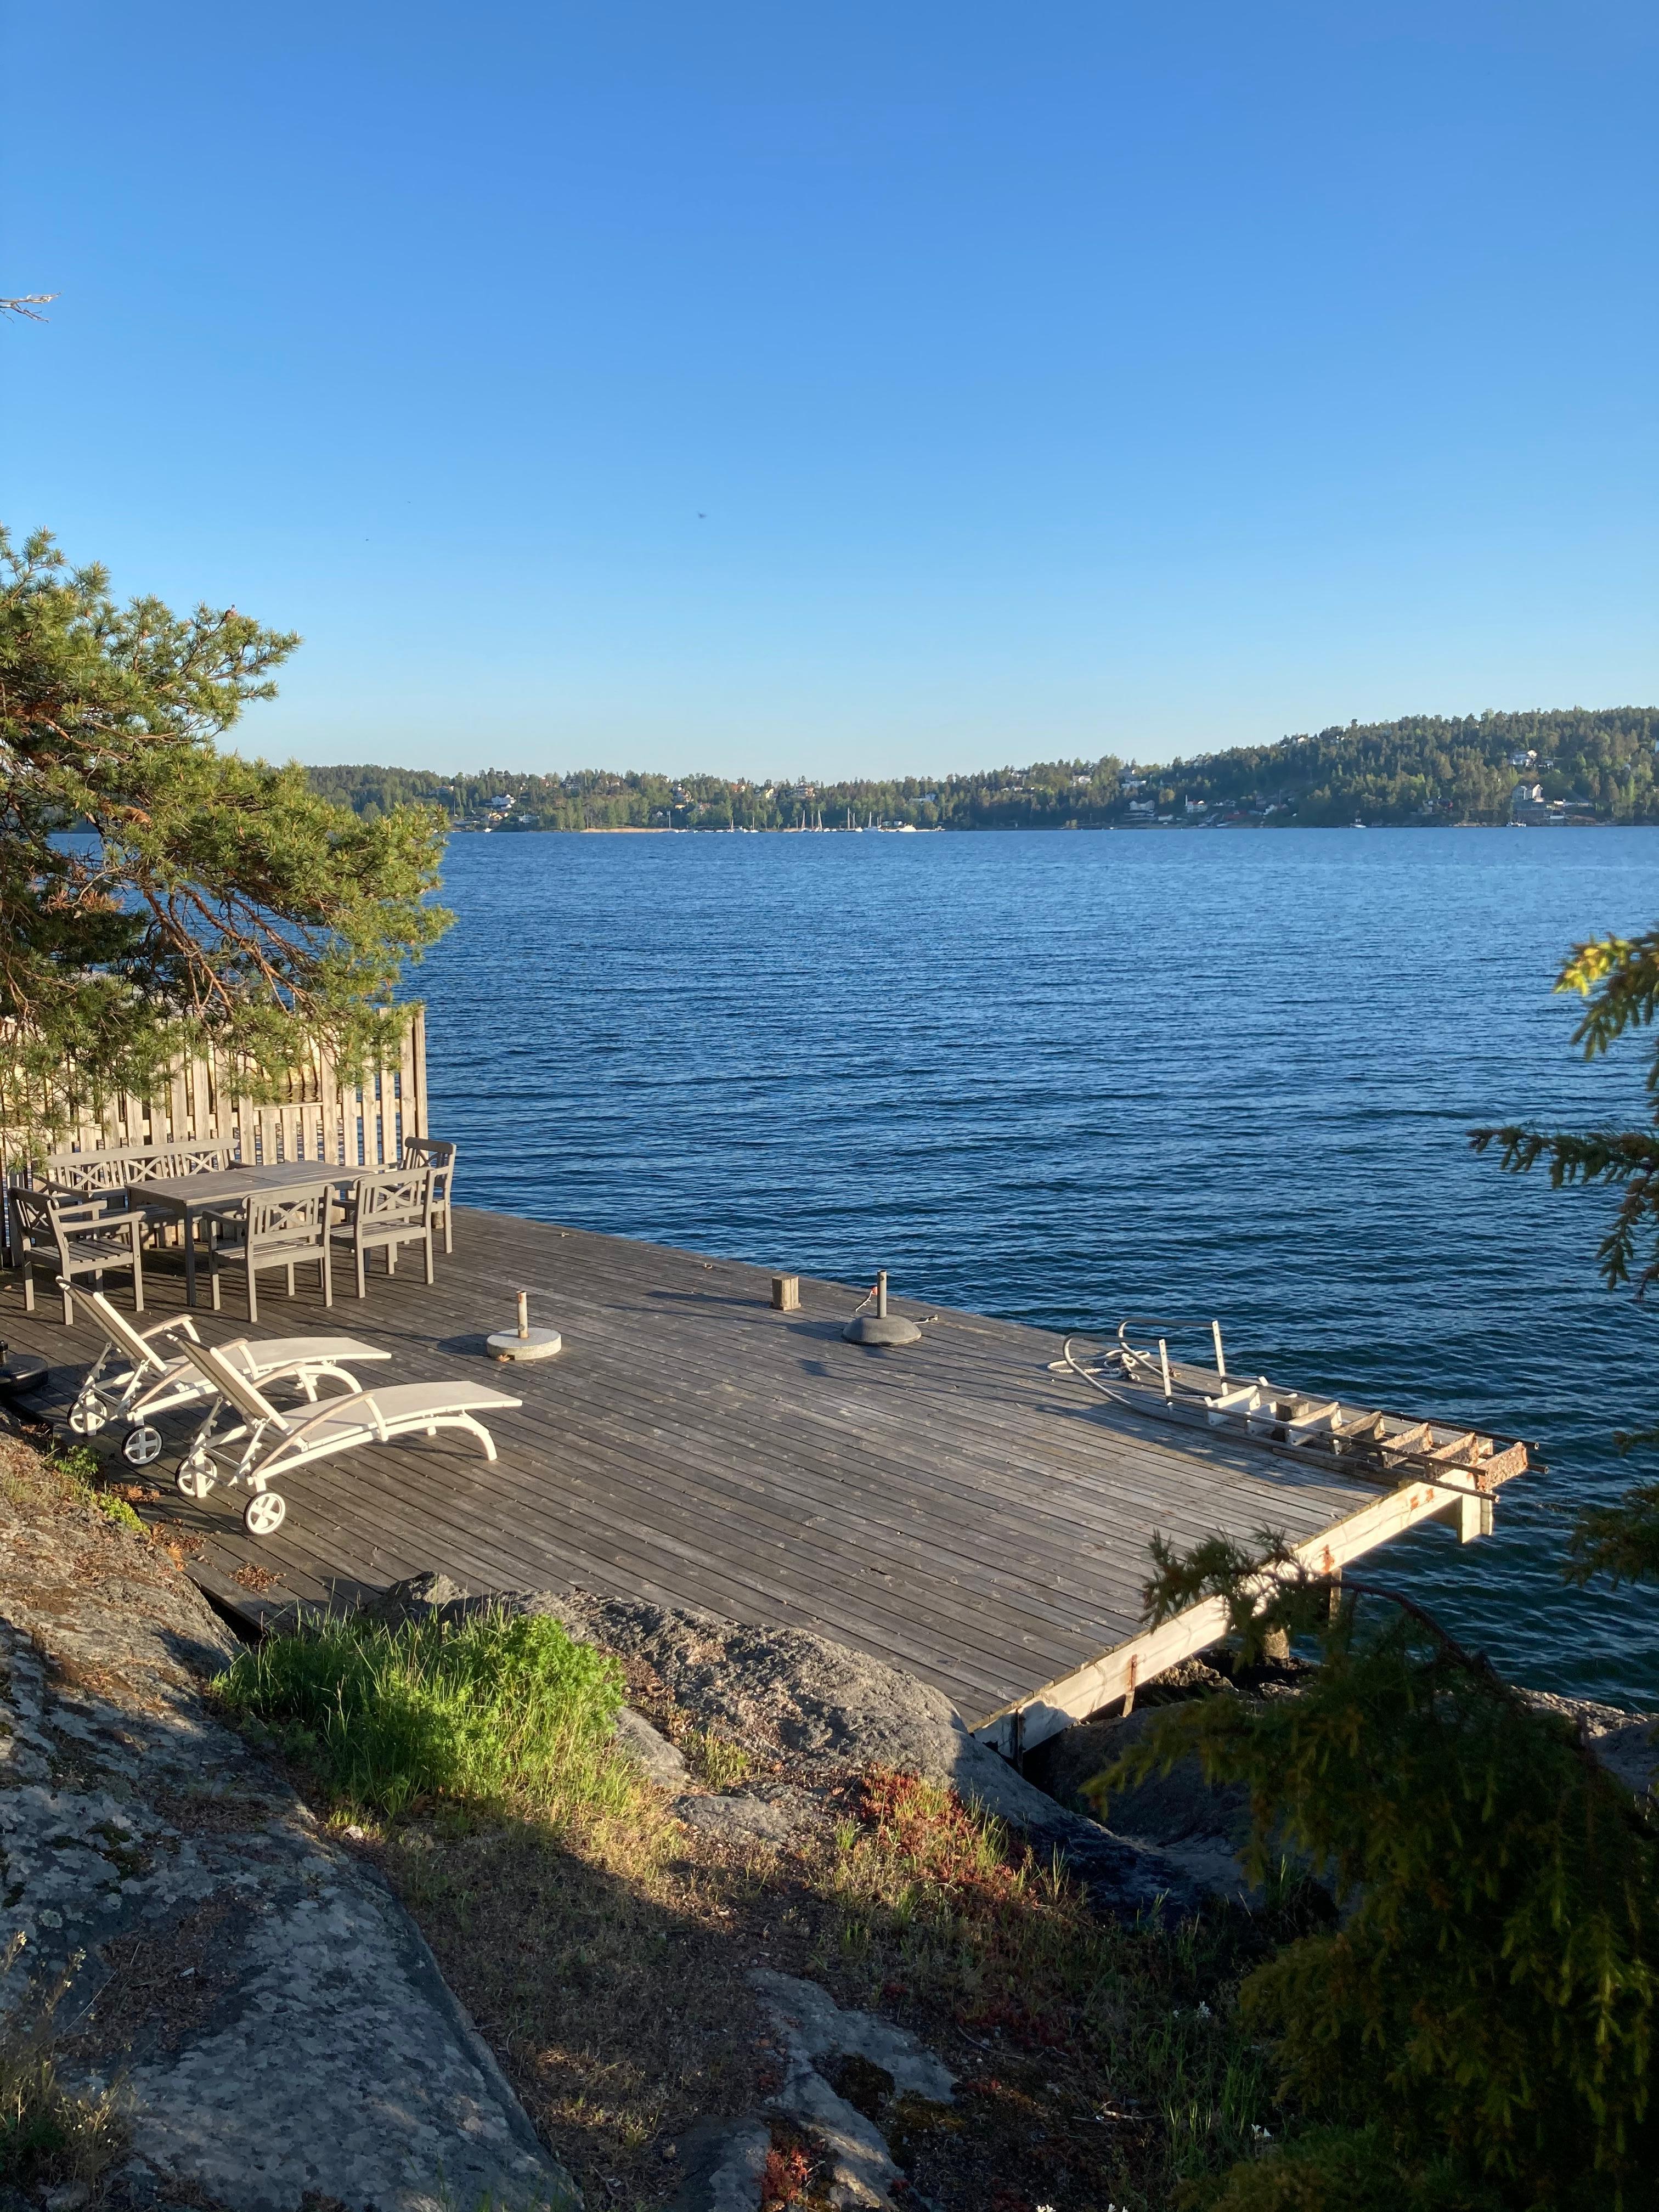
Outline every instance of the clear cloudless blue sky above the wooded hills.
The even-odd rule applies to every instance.
[[[13,9],[0,513],[307,761],[1659,699],[1646,4]]]

